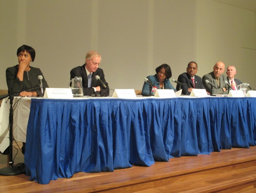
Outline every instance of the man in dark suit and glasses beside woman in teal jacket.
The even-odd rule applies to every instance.
[[[178,82],[183,83],[184,85],[177,84],[176,90],[182,89],[182,94],[190,95],[193,88],[204,89],[202,85],[202,78],[195,75],[197,73],[197,63],[190,62],[187,67],[187,72],[180,74],[178,77]]]

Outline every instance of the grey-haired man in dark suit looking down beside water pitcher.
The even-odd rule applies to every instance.
[[[80,76],[83,79],[83,95],[91,96],[109,96],[109,86],[105,80],[103,70],[99,67],[101,62],[101,56],[96,51],[89,51],[85,57],[85,64],[83,66],[77,66],[70,71],[70,80],[75,76]],[[95,76],[99,76],[100,80],[106,85],[106,88],[102,85],[100,80],[97,80]]]

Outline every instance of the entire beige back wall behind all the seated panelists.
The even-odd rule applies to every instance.
[[[0,0],[0,16],[0,89],[22,44],[35,48],[31,66],[55,88],[67,88],[92,49],[112,89],[142,89],[163,63],[177,79],[190,61],[202,76],[220,60],[256,88],[255,11],[213,0]]]

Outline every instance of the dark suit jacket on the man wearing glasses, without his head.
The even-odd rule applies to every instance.
[[[182,89],[182,94],[184,95],[190,95],[190,92],[188,92],[188,88],[194,88],[193,81],[191,80],[191,77],[187,73],[182,73],[178,77],[178,82],[181,82],[185,85],[178,85],[176,86],[176,90]],[[195,75],[194,77],[194,83],[195,88],[204,89],[204,85],[202,84],[202,78],[200,76]]]

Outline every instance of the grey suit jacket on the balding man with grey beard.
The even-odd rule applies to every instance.
[[[206,91],[208,91],[208,93],[211,93],[211,85],[209,85],[208,83],[206,83],[205,81],[208,80],[209,83],[211,83],[213,86],[215,86],[216,88],[218,88],[218,84],[217,81],[215,79],[215,76],[213,74],[213,72],[209,73],[209,74],[205,74],[202,77],[202,83],[204,85],[204,88],[206,89]],[[221,94],[228,94],[228,86],[225,84],[226,77],[224,75],[220,75],[220,88],[216,89],[213,87],[213,95],[221,95]],[[223,92],[222,88],[226,88],[226,91]]]

